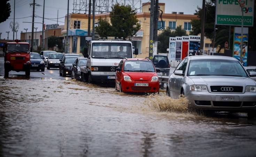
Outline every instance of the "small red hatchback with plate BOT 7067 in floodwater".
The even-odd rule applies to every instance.
[[[159,80],[154,64],[148,59],[123,59],[116,68],[116,90],[121,92],[159,93]]]

